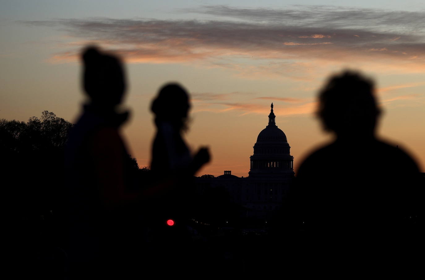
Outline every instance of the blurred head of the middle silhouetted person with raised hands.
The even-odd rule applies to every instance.
[[[150,109],[156,115],[156,122],[167,121],[179,129],[186,129],[189,95],[179,84],[166,84],[159,90]]]

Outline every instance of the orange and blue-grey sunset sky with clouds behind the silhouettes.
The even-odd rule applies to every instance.
[[[187,143],[212,153],[198,175],[247,176],[271,102],[297,169],[330,138],[314,117],[317,90],[350,68],[376,81],[379,135],[425,172],[423,1],[0,0],[0,37],[6,119],[48,110],[75,121],[84,102],[80,51],[96,44],[119,53],[132,113],[123,135],[140,166],[149,165],[155,133],[150,102],[177,81],[192,97]]]

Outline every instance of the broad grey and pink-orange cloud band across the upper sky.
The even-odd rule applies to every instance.
[[[80,50],[76,45],[96,42],[130,63],[196,61],[207,67],[231,68],[241,76],[266,73],[302,80],[312,75],[307,64],[325,67],[341,63],[376,65],[382,71],[425,72],[425,11],[202,6],[179,12],[218,19],[90,18],[23,23],[57,28],[74,39],[68,47],[60,47],[52,62],[76,59]],[[270,62],[275,64],[269,67]]]

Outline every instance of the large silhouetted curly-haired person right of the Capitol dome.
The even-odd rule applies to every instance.
[[[374,84],[358,73],[332,76],[319,93],[318,116],[336,138],[301,164],[292,193],[309,267],[416,265],[423,186],[414,160],[376,137],[379,115]]]

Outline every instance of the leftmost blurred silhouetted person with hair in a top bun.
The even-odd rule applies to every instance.
[[[128,191],[128,154],[119,133],[128,112],[118,113],[125,92],[120,60],[96,48],[82,54],[88,103],[71,131],[66,153],[69,178],[71,277],[113,277],[126,255],[123,206],[136,199]],[[124,253],[123,253],[124,252]]]

